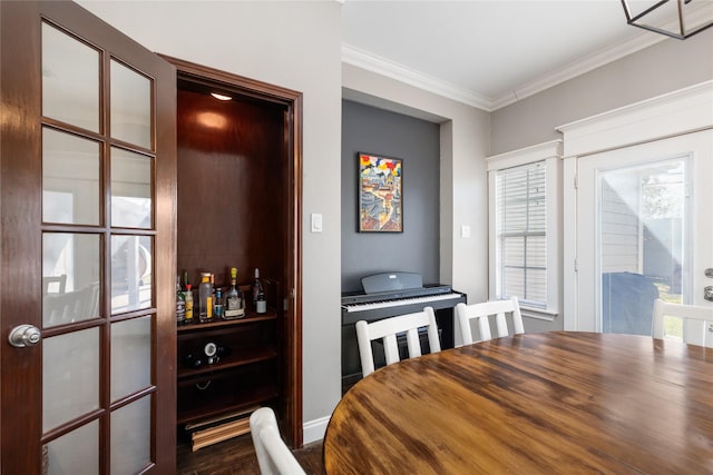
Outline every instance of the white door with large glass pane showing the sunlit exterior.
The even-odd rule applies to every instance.
[[[657,297],[713,306],[713,130],[575,160],[576,329],[649,335]]]

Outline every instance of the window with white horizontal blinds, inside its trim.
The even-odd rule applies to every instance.
[[[547,307],[547,167],[545,160],[496,172],[498,297]]]

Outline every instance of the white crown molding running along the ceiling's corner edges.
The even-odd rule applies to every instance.
[[[668,38],[663,34],[652,34],[645,31],[637,33],[624,42],[586,56],[563,68],[521,85],[495,99],[423,75],[417,70],[346,43],[342,43],[342,62],[482,109],[487,112],[492,112],[667,39]]]

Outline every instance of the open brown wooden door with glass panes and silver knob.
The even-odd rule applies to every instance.
[[[174,68],[0,2],[3,474],[175,467]]]

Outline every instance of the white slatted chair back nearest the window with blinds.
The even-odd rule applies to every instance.
[[[470,345],[473,343],[472,330],[470,328],[471,320],[478,320],[478,329],[480,331],[480,342],[492,339],[492,333],[490,331],[491,315],[495,315],[496,328],[498,337],[508,336],[508,323],[506,314],[511,314],[512,318],[512,333],[525,333],[522,326],[522,315],[520,314],[520,304],[517,297],[510,297],[507,300],[491,300],[481,301],[478,304],[458,304],[456,306],[456,315],[458,317],[458,324],[460,325],[460,335],[463,340],[463,345]]]

